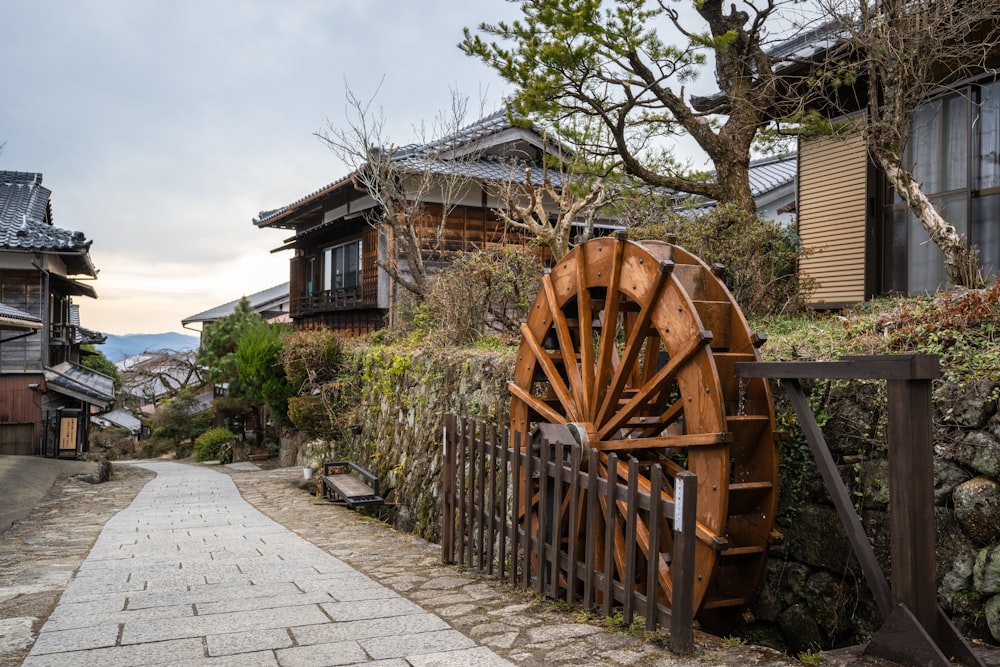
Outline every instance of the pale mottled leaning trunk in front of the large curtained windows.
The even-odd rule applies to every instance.
[[[878,155],[877,160],[896,192],[927,230],[931,241],[941,249],[952,284],[981,287],[985,281],[979,268],[979,251],[969,243],[968,237],[961,236],[953,225],[941,217],[913,176],[898,162],[882,155]]]

